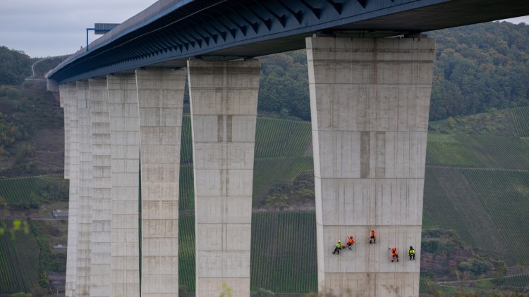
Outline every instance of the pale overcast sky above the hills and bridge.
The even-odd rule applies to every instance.
[[[0,0],[0,46],[30,57],[61,56],[86,46],[94,23],[123,23],[156,0]],[[529,24],[529,16],[510,20]],[[89,32],[92,42],[101,35]]]

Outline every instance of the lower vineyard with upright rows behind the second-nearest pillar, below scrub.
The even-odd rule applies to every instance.
[[[194,215],[178,222],[178,281],[188,291],[195,291],[194,222]],[[315,237],[315,213],[253,213],[250,289],[317,291]]]

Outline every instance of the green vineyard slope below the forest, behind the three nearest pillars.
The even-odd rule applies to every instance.
[[[447,283],[444,287],[438,284],[458,279],[497,278],[488,283],[464,283],[480,286],[480,293],[500,285],[504,290],[515,291],[529,285],[523,276],[529,271],[525,230],[529,226],[529,216],[525,214],[529,209],[529,147],[525,138],[528,109],[493,110],[431,122],[423,209],[422,293],[460,291],[458,284]],[[184,123],[188,120],[185,117]],[[190,133],[190,126],[185,127],[183,133],[186,129]],[[285,141],[284,135],[278,133],[280,130],[293,131],[299,139]],[[265,137],[256,138],[255,148],[252,289],[296,293],[306,288],[303,291],[308,292],[315,287],[305,283],[307,279],[317,279],[315,258],[303,258],[313,251],[308,245],[315,243],[315,233],[310,231],[315,228],[311,210],[314,179],[310,125],[281,118],[258,118],[257,131]],[[307,134],[308,137],[303,136]],[[183,141],[182,145],[184,149],[190,143]],[[186,172],[181,175],[181,194],[188,196],[181,196],[181,210],[193,209],[190,158],[188,155],[182,160],[188,165],[181,169],[181,174]],[[293,217],[288,218],[287,213],[276,210],[308,211],[293,212]],[[192,213],[187,213],[185,220],[192,226]],[[292,233],[288,229],[283,232],[275,229],[277,220],[285,226],[297,226],[293,234],[303,234],[298,237],[303,241],[290,242],[303,246],[303,253],[284,253],[289,251],[284,243],[289,242]],[[295,220],[305,222],[295,224]],[[187,242],[193,242],[193,230],[181,228],[180,234]],[[182,242],[181,248],[186,250],[180,262],[184,276],[194,271],[194,252],[188,251]],[[312,259],[309,260],[312,264],[303,267],[308,259]],[[286,275],[281,274],[284,271]],[[291,275],[296,277],[289,279]],[[195,287],[193,278],[186,277],[181,282],[190,291]]]

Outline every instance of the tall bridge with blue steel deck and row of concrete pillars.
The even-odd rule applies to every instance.
[[[196,294],[250,295],[256,57],[294,49],[308,58],[319,290],[418,296],[422,32],[528,14],[522,0],[161,0],[130,18],[47,75],[65,111],[66,296],[178,296],[186,76],[195,232],[214,239],[195,247]],[[351,234],[356,252],[333,255]],[[418,260],[391,263],[388,246]]]

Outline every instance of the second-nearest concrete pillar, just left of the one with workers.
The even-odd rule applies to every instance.
[[[196,295],[250,295],[260,61],[188,61],[195,170]]]

